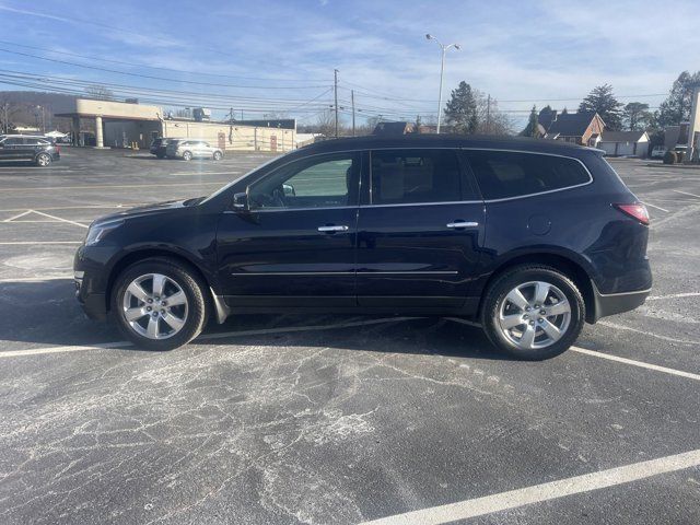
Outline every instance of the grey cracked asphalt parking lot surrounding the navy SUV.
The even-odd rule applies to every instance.
[[[73,298],[86,225],[269,156],[62,153],[0,164],[0,523],[700,523],[700,170],[611,161],[652,215],[652,296],[523,363],[441,318],[135,350]]]

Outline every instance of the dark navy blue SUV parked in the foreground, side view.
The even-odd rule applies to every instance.
[[[479,322],[522,359],[650,292],[649,217],[597,150],[365,137],[277,158],[209,197],[96,220],[75,255],[88,315],[149,349],[207,317],[408,313]]]

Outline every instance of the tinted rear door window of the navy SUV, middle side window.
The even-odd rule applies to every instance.
[[[372,205],[464,199],[463,174],[454,150],[375,150],[371,166]]]

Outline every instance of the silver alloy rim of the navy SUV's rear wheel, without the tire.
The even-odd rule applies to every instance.
[[[563,337],[571,322],[571,305],[553,284],[518,284],[502,300],[497,324],[503,337],[523,350],[546,348]]]

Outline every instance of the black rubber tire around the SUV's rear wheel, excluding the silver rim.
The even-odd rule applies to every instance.
[[[565,295],[569,301],[570,318],[568,327],[563,335],[560,336],[560,339],[542,348],[523,349],[509,339],[499,326],[500,308],[503,301],[505,301],[505,296],[512,290],[518,285],[536,281],[551,284]],[[535,312],[536,314],[537,312]],[[545,265],[523,265],[505,270],[489,285],[481,308],[481,326],[489,340],[503,352],[522,360],[540,361],[565,352],[581,334],[585,316],[583,296],[575,283],[565,273]],[[529,323],[533,324],[533,320]],[[536,326],[535,330],[537,329],[538,327]],[[539,337],[541,337],[542,331],[540,331]],[[546,335],[544,336],[547,337]]]

